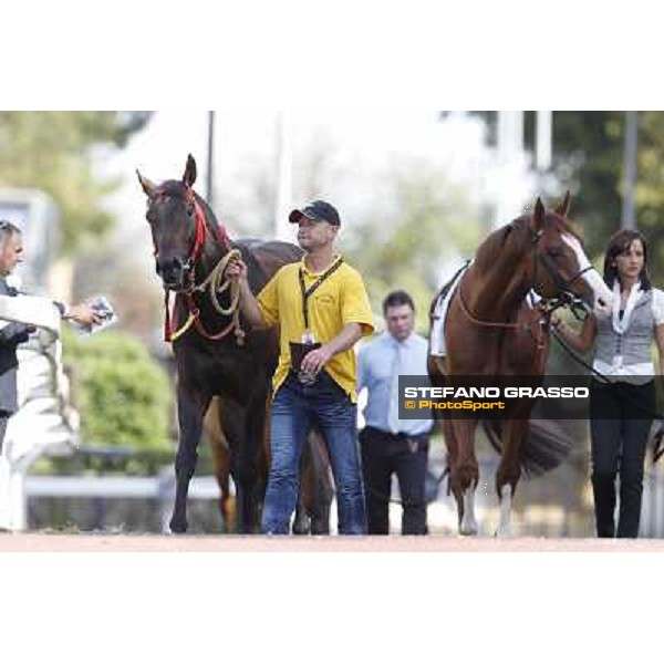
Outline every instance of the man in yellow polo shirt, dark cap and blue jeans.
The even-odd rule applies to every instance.
[[[332,464],[339,532],[363,535],[366,515],[355,445],[356,393],[353,345],[373,331],[360,273],[334,253],[341,220],[329,203],[315,200],[289,217],[299,225],[302,261],[282,267],[255,298],[247,266],[237,260],[227,276],[239,279],[240,307],[255,328],[280,325],[279,365],[272,381],[272,461],[262,511],[263,533],[286,535],[298,498],[298,469],[312,424],[320,427]]]

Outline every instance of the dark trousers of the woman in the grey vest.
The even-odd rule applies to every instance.
[[[654,409],[654,381],[645,385],[591,383],[592,490],[598,537],[616,535],[616,477],[620,477],[618,537],[639,535],[643,463],[652,425],[647,414]]]

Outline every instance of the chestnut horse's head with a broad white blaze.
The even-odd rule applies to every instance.
[[[604,318],[611,313],[613,294],[588,260],[581,238],[567,218],[569,207],[569,191],[554,211],[547,211],[537,199],[529,221],[533,289],[546,299],[575,295]]]

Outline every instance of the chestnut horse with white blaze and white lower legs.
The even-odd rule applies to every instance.
[[[595,315],[609,314],[612,293],[567,219],[569,204],[569,191],[554,211],[547,211],[538,198],[532,215],[515,219],[480,245],[449,301],[447,354],[444,360],[429,355],[434,385],[455,387],[464,376],[487,376],[498,386],[501,376],[533,376],[535,385],[540,385],[549,353],[549,325],[543,309],[527,303],[531,290],[544,301],[580,298]],[[511,497],[528,453],[531,407],[531,400],[516,401],[497,426],[491,423],[501,450],[496,474],[500,536],[510,535]],[[443,418],[461,535],[477,533],[475,432],[479,417]]]

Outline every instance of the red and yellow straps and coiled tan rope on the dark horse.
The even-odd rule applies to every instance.
[[[205,246],[206,235],[207,235],[207,225],[205,222],[205,212],[200,207],[198,200],[196,200],[194,193],[191,189],[187,189],[185,194],[185,200],[187,203],[193,204],[194,206],[194,217],[196,222],[196,235],[194,240],[194,247],[191,248],[191,252],[187,258],[186,268],[189,273],[189,287],[181,293],[186,299],[186,305],[188,310],[187,320],[176,329],[176,326],[172,322],[172,308],[170,308],[170,292],[168,289],[164,289],[164,340],[168,343],[173,343],[177,341],[180,336],[183,336],[191,325],[196,326],[196,330],[206,339],[210,341],[219,341],[227,336],[231,331],[235,331],[236,342],[238,345],[243,345],[245,343],[245,331],[240,326],[240,286],[237,281],[227,279],[224,280],[224,271],[228,263],[236,259],[240,258],[241,253],[239,249],[230,249],[228,250],[224,257],[217,262],[211,272],[200,283],[195,283],[196,279],[196,264],[200,258],[203,252],[203,247]],[[228,249],[228,236],[224,227],[219,228],[219,242]],[[204,293],[205,290],[209,290],[209,298],[212,307],[217,312],[221,315],[230,315],[231,321],[224,330],[217,332],[215,334],[208,332],[201,320],[200,320],[200,309],[196,303],[194,298],[194,293],[200,292]],[[226,290],[230,289],[230,304],[225,308],[221,305],[219,301],[219,295]]]

